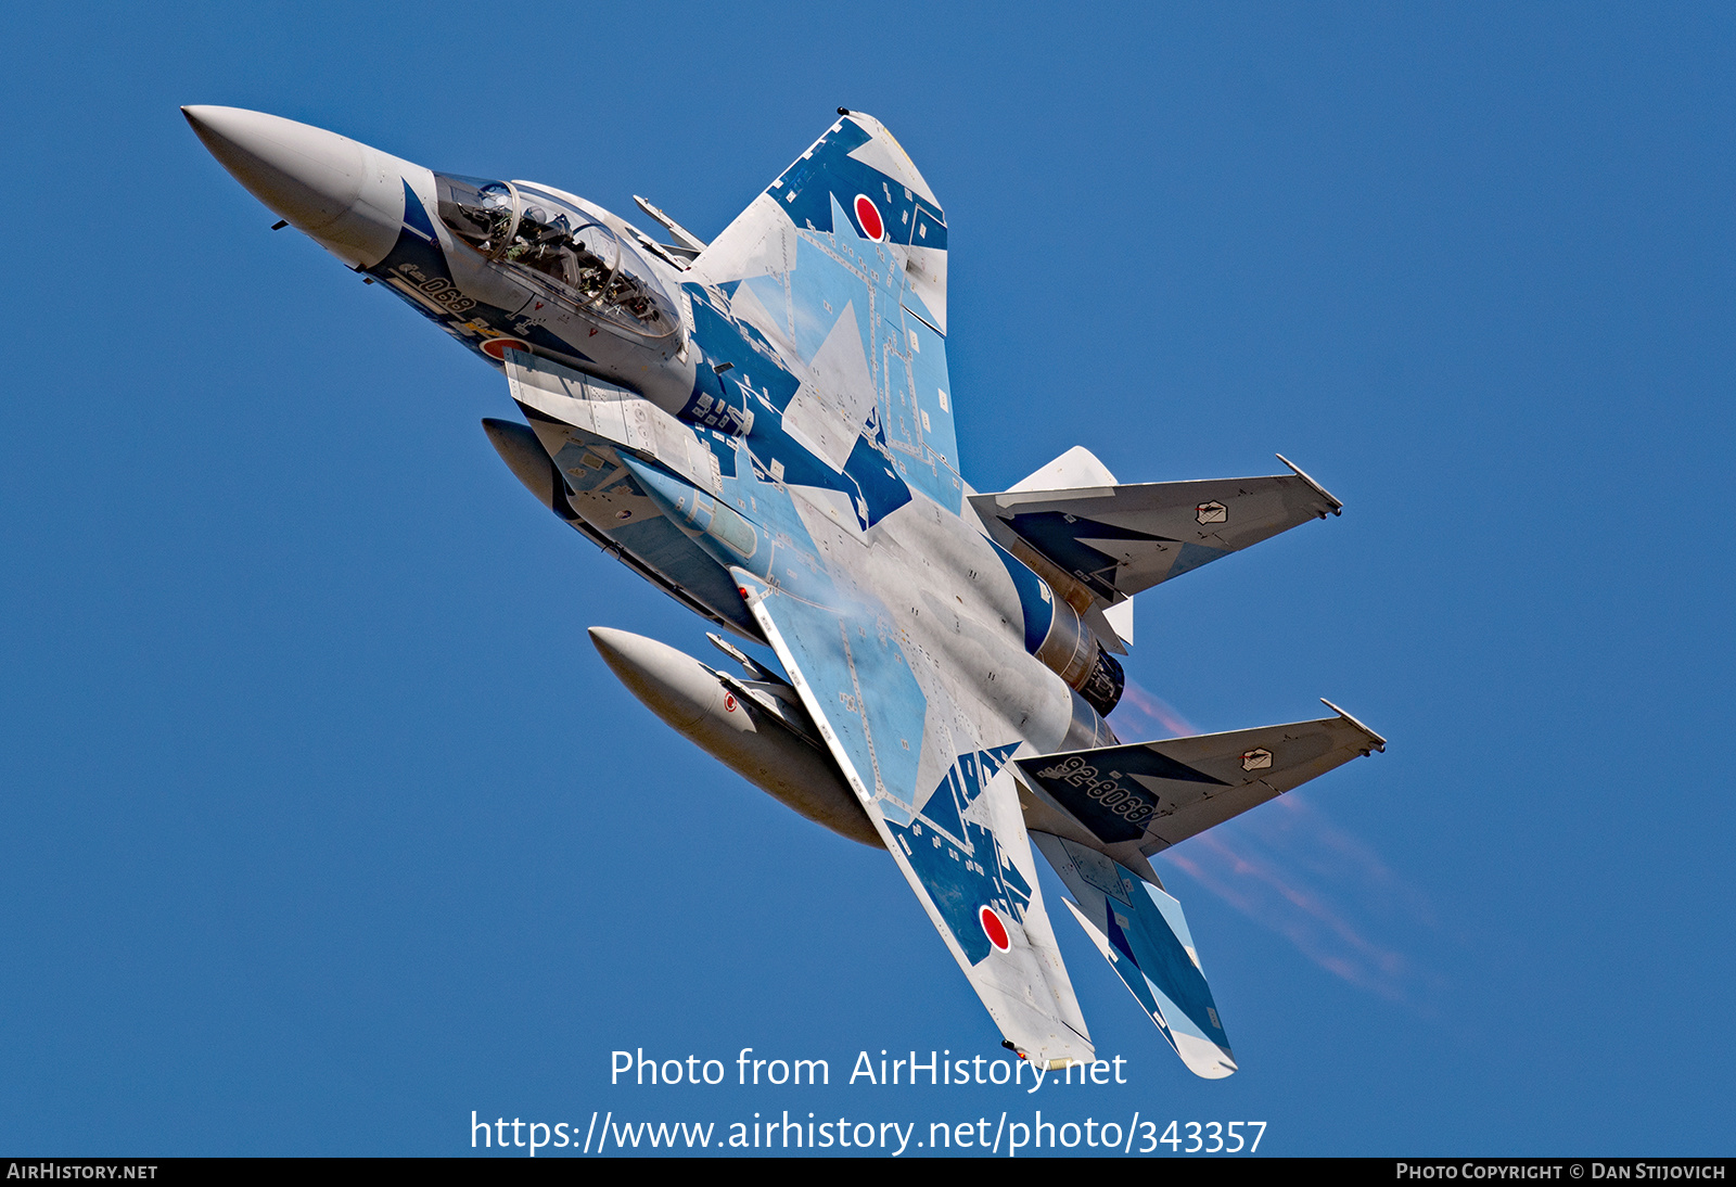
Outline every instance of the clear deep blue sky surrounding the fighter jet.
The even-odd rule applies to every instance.
[[[1264,1119],[1262,1152],[1733,1152],[1733,26],[16,7],[0,1151],[1042,1107]],[[1328,696],[1391,738],[1160,861],[1241,1071],[1187,1074],[1057,909],[1128,1085],[842,1085],[998,1034],[884,856],[615,682],[585,626],[707,654],[698,620],[535,507],[477,427],[502,380],[271,234],[189,102],[701,236],[870,111],[948,212],[977,488],[1087,444],[1123,481],[1281,451],[1342,498],[1142,595],[1118,713]],[[833,1085],[608,1083],[616,1048],[743,1046]]]

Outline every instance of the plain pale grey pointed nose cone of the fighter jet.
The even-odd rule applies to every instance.
[[[418,167],[262,111],[193,106],[181,113],[255,198],[352,267],[372,267],[398,243],[404,175]]]

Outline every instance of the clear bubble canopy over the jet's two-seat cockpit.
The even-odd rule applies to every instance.
[[[623,330],[681,326],[649,264],[597,215],[521,182],[434,174],[439,219],[490,260],[531,272],[556,297]]]

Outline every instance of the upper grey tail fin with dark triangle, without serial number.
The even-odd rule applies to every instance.
[[[972,495],[970,503],[1002,547],[1016,555],[1021,543],[1033,548],[1094,597],[1115,604],[1344,508],[1314,479],[1290,469],[1293,474],[1200,482],[1010,489]]]

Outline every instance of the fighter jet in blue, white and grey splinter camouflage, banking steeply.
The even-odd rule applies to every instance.
[[[1330,703],[1134,743],[1104,717],[1135,594],[1337,515],[1337,498],[1283,456],[1276,475],[1125,484],[1085,448],[974,489],[946,368],[946,212],[859,111],[838,108],[710,241],[642,198],[660,234],[542,182],[182,111],[279,227],[503,375],[523,420],[483,429],[507,467],[715,626],[727,658],[595,626],[602,659],[724,765],[884,849],[1003,1046],[1094,1059],[1035,845],[1182,1062],[1236,1071],[1149,856],[1385,739]]]

